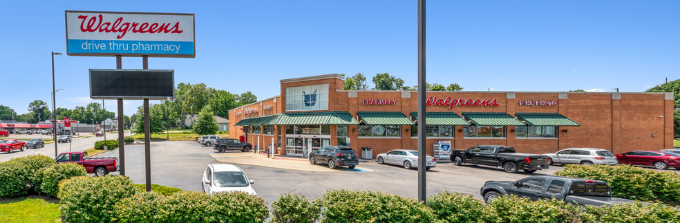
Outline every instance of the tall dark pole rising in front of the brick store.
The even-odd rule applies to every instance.
[[[425,140],[425,0],[418,0],[418,200],[425,203],[426,140]]]

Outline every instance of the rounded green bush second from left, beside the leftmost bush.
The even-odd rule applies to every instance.
[[[40,170],[42,182],[37,191],[53,197],[59,192],[59,181],[75,176],[86,176],[87,171],[75,163],[59,163]]]

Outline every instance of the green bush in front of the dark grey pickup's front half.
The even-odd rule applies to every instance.
[[[504,195],[484,209],[487,222],[577,222],[576,206],[563,200],[536,200]]]

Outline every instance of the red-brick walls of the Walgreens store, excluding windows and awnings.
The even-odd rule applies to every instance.
[[[417,92],[399,91],[345,91],[343,80],[337,75],[311,76],[281,81],[281,95],[229,111],[229,137],[244,136],[243,127],[234,126],[243,118],[261,117],[285,111],[285,88],[305,85],[328,84],[328,110],[348,111],[354,118],[358,111],[401,111],[405,116],[417,111]],[[556,138],[516,138],[516,127],[508,126],[504,138],[466,138],[463,127],[454,126],[452,138],[428,138],[427,151],[433,154],[433,143],[451,141],[454,149],[474,145],[509,145],[518,152],[549,153],[569,147],[594,147],[622,153],[637,149],[658,150],[673,146],[673,100],[672,93],[585,93],[585,92],[428,92],[437,98],[495,99],[498,106],[427,106],[428,111],[455,112],[503,112],[558,113],[580,124],[578,127],[558,127]],[[392,105],[364,105],[362,100],[396,100]],[[520,105],[520,101],[551,101],[551,105]],[[473,102],[473,101],[471,101]],[[390,103],[391,104],[391,103]],[[271,105],[271,106],[269,106]],[[244,111],[252,111],[245,114]],[[265,109],[266,108],[266,109]],[[313,112],[313,111],[312,111]],[[247,142],[267,148],[272,138],[277,147],[285,144],[285,126],[275,126],[273,135],[247,134]],[[332,125],[330,145],[336,145],[337,126]],[[281,142],[278,135],[281,132]],[[392,149],[417,149],[417,138],[411,137],[410,126],[401,129],[401,138],[358,137],[357,125],[348,126],[350,147],[360,153],[361,147],[372,147],[373,157]],[[260,138],[258,142],[258,136]],[[285,148],[276,153],[285,155]]]

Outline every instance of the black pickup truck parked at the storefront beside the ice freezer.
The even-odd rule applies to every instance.
[[[480,164],[503,167],[508,173],[517,173],[520,169],[527,173],[539,169],[548,169],[548,156],[516,153],[515,148],[500,145],[476,145],[470,149],[451,151],[453,164]]]

